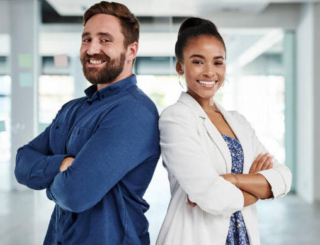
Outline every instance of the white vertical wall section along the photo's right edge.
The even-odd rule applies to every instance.
[[[304,4],[297,27],[297,192],[320,201],[319,92],[320,5]]]

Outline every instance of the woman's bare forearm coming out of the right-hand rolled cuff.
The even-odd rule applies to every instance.
[[[236,174],[239,180],[238,188],[248,192],[259,199],[267,199],[273,196],[271,186],[261,174]]]

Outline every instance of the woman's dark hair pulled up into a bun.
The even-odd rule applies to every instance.
[[[218,39],[226,50],[223,38],[218,32],[217,27],[210,20],[191,17],[185,19],[180,26],[178,40],[175,46],[176,59],[183,62],[183,50],[189,40],[200,36],[213,36]]]

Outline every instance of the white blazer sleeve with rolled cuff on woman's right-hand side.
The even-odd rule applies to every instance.
[[[268,152],[268,150],[258,139],[255,130],[251,127],[250,123],[242,115],[239,114],[239,116],[245,121],[245,124],[247,125],[248,131],[251,135],[250,138],[253,139],[254,157],[257,157],[259,153]],[[290,191],[292,174],[289,168],[283,164],[280,164],[274,156],[272,156],[272,162],[273,168],[262,170],[258,173],[263,175],[269,182],[271,191],[273,193],[273,198],[278,198],[285,196]]]

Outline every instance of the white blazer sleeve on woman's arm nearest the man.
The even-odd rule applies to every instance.
[[[242,192],[220,177],[197,130],[197,116],[176,104],[159,121],[162,158],[189,199],[213,215],[232,214],[244,206]]]

